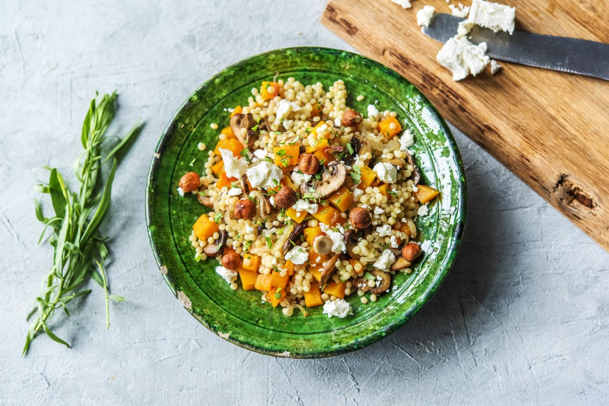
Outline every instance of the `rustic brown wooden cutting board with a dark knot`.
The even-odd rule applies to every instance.
[[[516,7],[517,29],[609,43],[607,1],[501,2]],[[331,0],[322,23],[414,83],[448,121],[609,251],[609,81],[501,62],[495,76],[452,82],[435,60],[442,44],[417,26],[423,5],[450,13],[445,0],[415,0],[412,9]]]

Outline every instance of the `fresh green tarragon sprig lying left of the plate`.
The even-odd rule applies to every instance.
[[[108,256],[107,237],[102,237],[97,228],[110,207],[110,194],[114,173],[116,172],[118,154],[135,139],[142,125],[136,124],[124,138],[106,136],[114,114],[116,113],[116,91],[105,94],[99,102],[96,98],[91,105],[82,126],[83,152],[74,163],[74,172],[79,183],[74,192],[66,184],[57,168],[45,167],[51,172],[48,183],[38,185],[38,189],[51,196],[54,214],[44,217],[43,210],[36,201],[36,217],[44,224],[44,230],[38,240],[43,240],[45,231],[51,229],[48,242],[54,248],[52,265],[48,276],[43,281],[43,289],[36,298],[35,307],[27,315],[27,320],[35,316],[27,332],[26,344],[22,355],[32,343],[33,338],[41,332],[49,338],[69,348],[69,344],[57,337],[49,327],[49,321],[55,310],[63,310],[70,315],[68,304],[80,296],[85,296],[91,289],[83,289],[89,279],[96,281],[105,294],[106,327],[110,327],[108,301],[123,301],[124,298],[111,295],[104,270]],[[111,160],[110,171],[105,176],[102,167]]]

